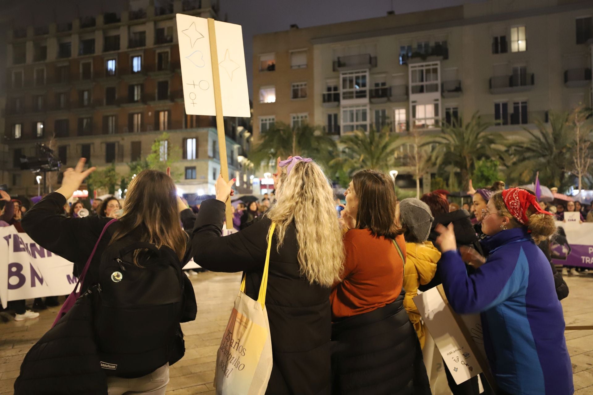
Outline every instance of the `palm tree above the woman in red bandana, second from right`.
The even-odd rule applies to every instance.
[[[432,159],[436,166],[445,166],[461,172],[464,188],[480,159],[505,158],[505,139],[499,133],[487,129],[491,123],[484,123],[480,115],[474,113],[465,125],[443,125],[441,133],[424,143],[424,146],[435,146]]]

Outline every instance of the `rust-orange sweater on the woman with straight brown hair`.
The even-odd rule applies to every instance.
[[[396,242],[406,256],[403,235]],[[404,262],[393,240],[373,237],[368,229],[351,229],[344,235],[344,249],[343,280],[331,290],[332,319],[367,313],[396,300]]]

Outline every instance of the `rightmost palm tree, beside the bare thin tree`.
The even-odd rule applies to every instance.
[[[521,182],[533,181],[540,172],[542,185],[565,191],[570,184],[573,165],[574,130],[569,126],[568,113],[550,113],[550,127],[536,121],[538,131],[524,128],[527,140],[512,148],[515,163],[509,166],[509,176]]]

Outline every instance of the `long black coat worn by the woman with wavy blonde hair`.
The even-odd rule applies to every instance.
[[[221,237],[224,211],[221,201],[203,201],[192,239],[194,260],[211,271],[244,271],[246,294],[256,300],[271,221],[258,217],[246,229]],[[274,236],[266,293],[273,367],[266,393],[329,394],[330,288],[301,277],[294,224],[286,229],[279,252],[276,243]]]

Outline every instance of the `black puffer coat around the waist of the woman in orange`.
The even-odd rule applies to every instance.
[[[333,324],[332,394],[431,394],[420,342],[403,306],[405,294]]]

